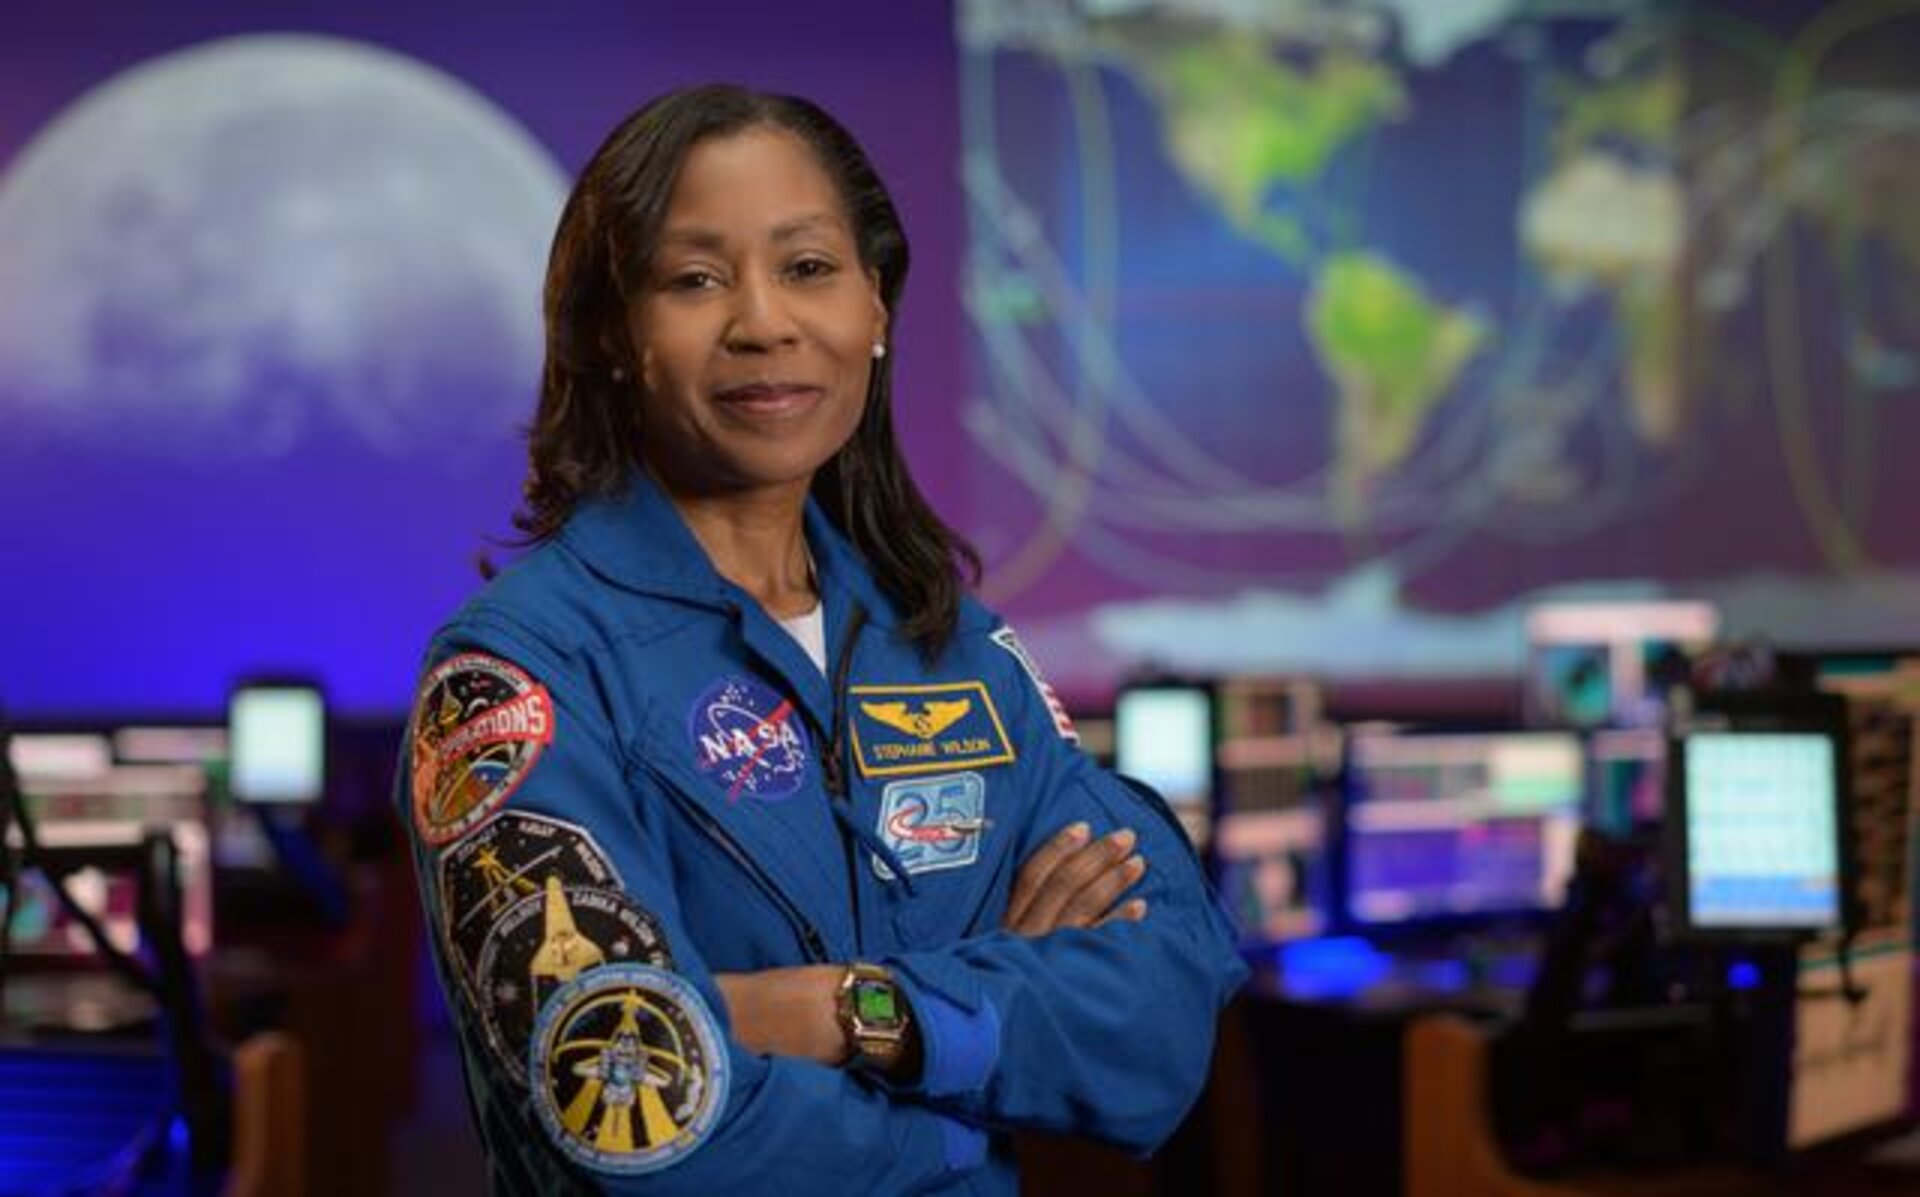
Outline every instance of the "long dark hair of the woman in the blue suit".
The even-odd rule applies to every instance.
[[[847,129],[820,106],[741,86],[668,92],[624,119],[593,154],[561,213],[547,261],[547,363],[528,430],[528,544],[561,530],[582,500],[620,490],[639,459],[639,405],[624,367],[628,298],[647,277],[666,202],[695,144],[772,127],[820,159],[852,225],[860,265],[879,277],[887,327],[906,284],[906,231],[893,198]],[[925,659],[952,638],[960,596],[979,582],[979,553],[927,505],[893,434],[893,359],[874,363],[860,427],[814,475],[812,496],[906,613]]]

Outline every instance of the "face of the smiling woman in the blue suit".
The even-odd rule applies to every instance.
[[[749,129],[687,154],[626,330],[647,465],[741,494],[804,488],[847,444],[887,309],[812,150]]]

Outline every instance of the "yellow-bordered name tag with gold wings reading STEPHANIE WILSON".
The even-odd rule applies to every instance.
[[[985,682],[849,686],[849,730],[870,778],[1008,765],[1014,742]]]

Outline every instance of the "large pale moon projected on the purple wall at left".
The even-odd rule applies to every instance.
[[[140,63],[0,175],[0,421],[202,463],[459,455],[530,411],[566,183],[465,83],[324,37]]]

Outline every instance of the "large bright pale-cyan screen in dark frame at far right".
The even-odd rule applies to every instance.
[[[1839,924],[1834,738],[1686,738],[1688,920],[1715,930]]]

